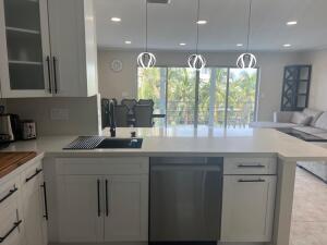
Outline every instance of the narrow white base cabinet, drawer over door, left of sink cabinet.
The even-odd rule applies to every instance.
[[[37,168],[40,171],[39,168]],[[35,167],[26,171],[28,174],[23,174],[22,184],[22,203],[23,203],[23,222],[25,228],[26,245],[46,245],[47,221],[45,216],[43,183],[44,177],[41,172],[37,172]],[[28,179],[26,179],[28,177]]]

